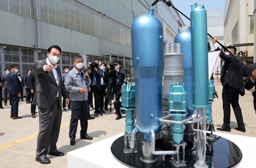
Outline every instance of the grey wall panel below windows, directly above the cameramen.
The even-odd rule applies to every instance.
[[[99,56],[102,54],[118,55],[118,44],[104,39],[99,39]]]

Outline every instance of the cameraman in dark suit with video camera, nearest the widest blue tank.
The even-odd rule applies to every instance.
[[[110,70],[109,70],[109,76],[113,76],[115,81],[112,81],[113,83],[113,92],[115,93],[115,96],[117,97],[117,93],[120,91],[121,86],[124,83],[125,79],[125,69],[120,68],[121,61],[117,60],[115,63],[110,63]]]

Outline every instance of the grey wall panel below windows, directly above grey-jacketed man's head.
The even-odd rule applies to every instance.
[[[71,52],[99,55],[99,38],[71,30]]]

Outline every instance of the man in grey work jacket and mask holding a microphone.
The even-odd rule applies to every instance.
[[[92,140],[87,134],[88,127],[88,89],[87,87],[91,84],[89,74],[84,73],[83,57],[75,56],[73,64],[75,67],[69,71],[65,78],[65,87],[69,92],[69,100],[71,101],[71,119],[69,125],[69,138],[70,145],[75,145],[76,130],[78,126],[78,120],[80,117],[80,138],[86,140]]]

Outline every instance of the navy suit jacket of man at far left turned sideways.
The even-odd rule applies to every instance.
[[[10,71],[7,75],[8,80],[8,93],[12,95],[18,95],[22,92],[22,87],[20,85],[20,80],[15,72]]]

